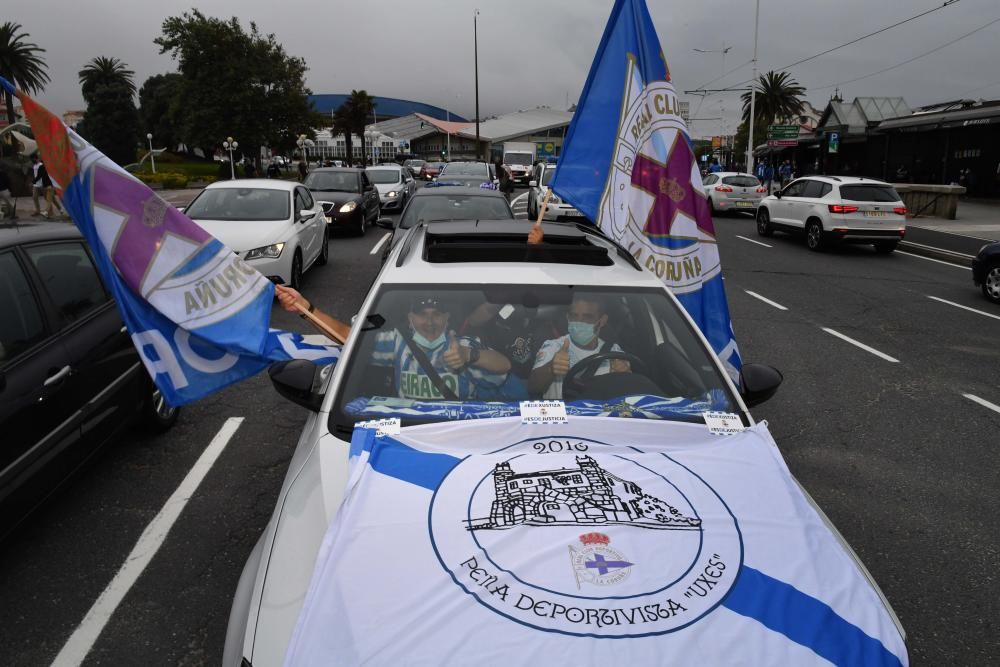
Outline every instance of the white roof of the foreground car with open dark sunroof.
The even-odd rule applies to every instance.
[[[530,222],[421,223],[407,231],[379,276],[393,284],[477,283],[630,285],[665,289],[627,250],[592,225],[542,223],[545,241],[529,252]]]

